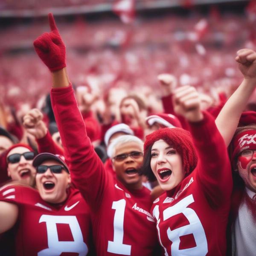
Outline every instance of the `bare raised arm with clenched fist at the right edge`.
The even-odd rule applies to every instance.
[[[230,144],[236,131],[241,113],[247,105],[256,86],[256,52],[241,49],[237,52],[236,61],[244,76],[242,83],[230,96],[215,120],[226,146]]]

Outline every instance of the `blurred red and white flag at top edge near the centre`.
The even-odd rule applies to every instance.
[[[123,23],[132,23],[135,18],[135,0],[118,0],[113,4],[113,12]]]

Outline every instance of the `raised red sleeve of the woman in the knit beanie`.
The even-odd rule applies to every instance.
[[[198,153],[196,172],[207,198],[214,205],[225,204],[232,192],[232,174],[227,148],[213,117],[204,112],[201,122],[189,123]]]

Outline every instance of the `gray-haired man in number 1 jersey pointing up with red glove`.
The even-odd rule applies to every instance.
[[[51,32],[37,38],[34,46],[39,57],[52,72],[52,108],[72,181],[92,210],[96,253],[101,256],[152,255],[157,245],[157,236],[149,213],[150,192],[143,187],[137,173],[123,173],[124,176],[127,175],[127,179],[115,181],[113,175],[104,169],[87,137],[65,69],[65,46],[52,14],[49,14],[49,23]],[[122,160],[132,163],[134,169],[143,158],[142,154],[133,154],[139,150],[139,144],[133,142],[129,146],[127,142],[119,152],[115,151],[115,157],[122,154]],[[136,161],[137,163],[133,163]],[[130,179],[128,175],[133,177]]]

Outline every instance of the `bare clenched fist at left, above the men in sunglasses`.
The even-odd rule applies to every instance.
[[[31,109],[23,117],[23,126],[36,139],[41,139],[47,134],[47,127],[42,118],[43,114],[37,108]]]

